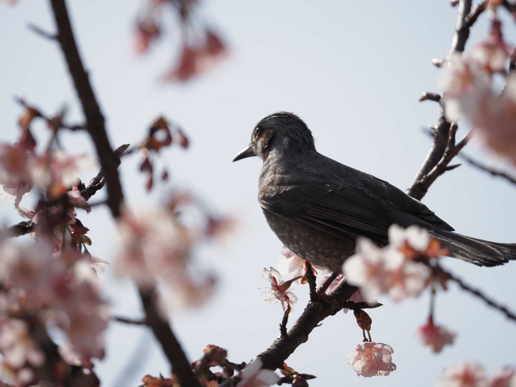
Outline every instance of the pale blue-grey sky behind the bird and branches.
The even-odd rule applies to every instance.
[[[171,315],[174,331],[190,360],[200,358],[206,344],[216,344],[228,350],[231,361],[250,361],[279,334],[281,307],[271,310],[258,288],[267,285],[261,269],[277,265],[281,243],[256,202],[260,160],[232,164],[232,158],[248,143],[256,122],[271,112],[288,110],[307,122],[319,152],[405,189],[430,146],[423,128],[437,123],[439,115],[437,104],[418,103],[417,98],[423,91],[438,91],[439,70],[430,60],[448,52],[457,10],[448,0],[206,0],[203,14],[219,27],[231,57],[180,85],[158,80],[177,54],[179,30],[171,15],[164,18],[162,40],[149,55],[139,57],[131,39],[140,0],[68,3],[112,145],[141,140],[161,114],[179,123],[190,136],[191,148],[165,153],[171,186],[195,191],[216,211],[239,221],[237,233],[224,246],[199,253],[199,265],[218,275],[217,292],[206,307]],[[507,40],[516,43],[516,29],[504,20]],[[31,33],[28,22],[53,31],[49,3],[0,4],[0,139],[8,142],[18,136],[21,113],[14,96],[47,114],[66,104],[70,121],[81,119],[59,47]],[[487,17],[482,15],[468,46],[487,31]],[[463,134],[465,125],[459,126]],[[39,138],[48,135],[42,124],[35,126],[34,133]],[[63,131],[62,141],[70,153],[92,151],[84,133]],[[488,165],[499,165],[478,142],[469,144],[465,152]],[[146,193],[145,176],[137,166],[138,158],[132,156],[124,158],[120,167],[128,205],[145,208],[166,198],[170,187],[164,185],[157,184],[151,195]],[[92,169],[80,177],[88,181],[94,173]],[[461,234],[514,243],[515,189],[464,165],[441,176],[423,201]],[[102,195],[105,192],[95,201]],[[26,207],[31,203],[32,198],[22,201]],[[0,211],[6,224],[22,220],[12,203],[0,203]],[[112,262],[116,230],[108,209],[98,207],[89,215],[78,210],[78,217],[90,228],[92,254]],[[479,268],[445,258],[443,264],[516,310],[516,262]],[[115,279],[112,265],[101,283],[115,314],[140,315],[134,285]],[[298,285],[294,293],[299,297],[296,318],[307,303],[308,288]],[[438,293],[436,322],[456,331],[458,337],[455,345],[437,355],[415,336],[427,318],[428,292],[399,304],[388,298],[380,302],[385,306],[370,313],[371,334],[374,341],[394,348],[398,368],[388,377],[359,379],[346,364],[345,356],[361,342],[362,332],[352,314],[342,312],[324,320],[286,363],[316,375],[311,387],[415,382],[431,386],[447,365],[463,360],[480,362],[490,375],[503,365],[516,365],[514,322],[455,285]],[[136,386],[143,375],[168,373],[160,348],[143,328],[111,324],[106,348],[105,359],[95,365],[104,386]],[[127,369],[135,351],[136,360]]]

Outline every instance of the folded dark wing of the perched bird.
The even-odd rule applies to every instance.
[[[269,187],[260,192],[259,201],[264,209],[284,219],[345,239],[367,236],[383,243],[393,223],[404,227],[420,224],[430,231],[434,227],[451,229],[423,203],[370,177],[353,185],[303,182]]]

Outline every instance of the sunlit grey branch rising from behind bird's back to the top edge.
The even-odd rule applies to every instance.
[[[470,15],[471,12],[471,3],[472,0],[460,0],[459,2],[459,11],[457,15],[457,25],[455,28],[455,33],[453,36],[453,40],[451,41],[451,50],[450,53],[454,52],[463,52],[464,47],[466,45],[467,38],[470,36],[470,26],[466,23],[466,18]],[[443,158],[444,153],[446,151],[446,139],[448,138],[448,134],[450,131],[451,123],[446,120],[444,115],[444,108],[441,107],[441,115],[439,117],[439,123],[437,125],[434,141],[432,147],[428,151],[428,154],[421,166],[420,170],[417,172],[413,182],[410,184],[409,188],[406,190],[407,195],[421,200],[424,196],[428,187],[435,179],[429,182],[426,189],[423,189],[420,181],[428,175],[434,167],[438,165],[440,160]],[[444,141],[443,141],[444,140]],[[436,176],[437,178],[437,176]]]

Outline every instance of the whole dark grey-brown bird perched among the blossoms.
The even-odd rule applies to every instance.
[[[423,227],[448,248],[449,256],[479,266],[516,260],[516,244],[456,234],[395,186],[318,153],[312,132],[292,113],[261,120],[251,144],[233,161],[251,156],[263,160],[258,202],[271,230],[302,259],[335,273],[354,253],[358,236],[385,246],[393,223]]]

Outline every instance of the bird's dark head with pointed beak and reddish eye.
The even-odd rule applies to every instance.
[[[312,132],[295,114],[280,111],[256,124],[251,134],[251,143],[233,161],[259,156],[265,162],[269,155],[288,157],[304,151],[315,151]]]

